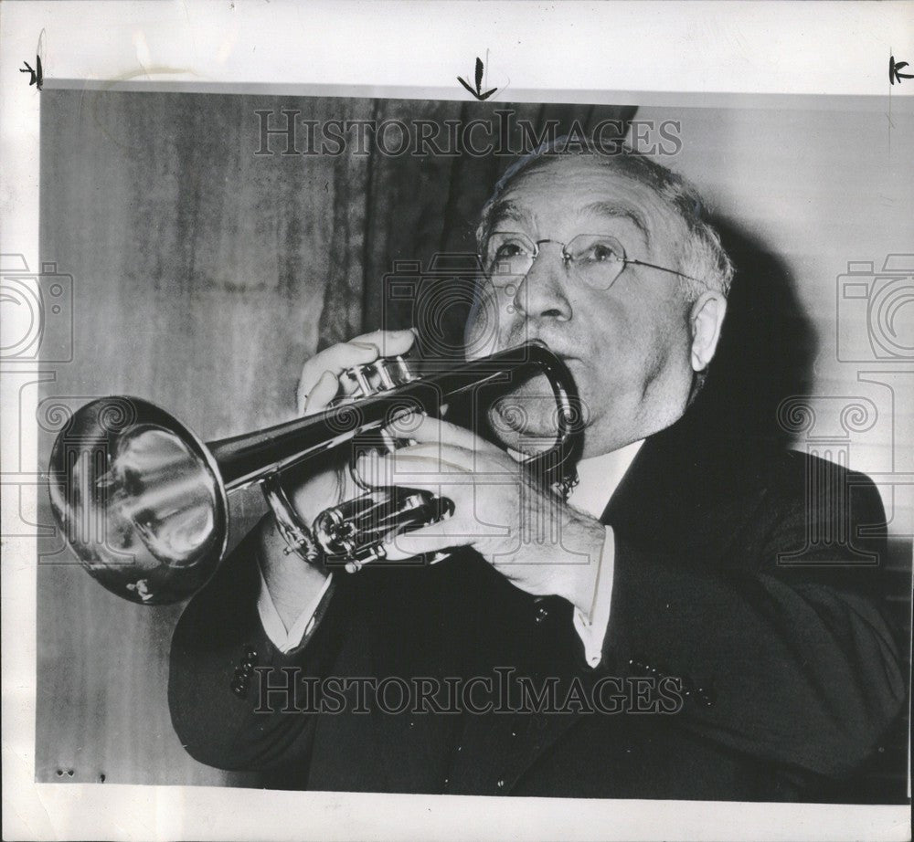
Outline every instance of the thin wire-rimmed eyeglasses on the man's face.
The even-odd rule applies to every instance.
[[[627,258],[619,240],[601,234],[579,234],[568,243],[559,243],[558,240],[551,239],[534,242],[526,234],[495,231],[486,240],[479,258],[486,275],[494,285],[507,286],[512,280],[516,283],[518,276],[526,277],[533,268],[540,247],[546,243],[555,243],[562,247],[562,259],[566,267],[575,279],[590,289],[610,289],[615,279],[622,274],[622,269],[630,264],[660,269],[680,278],[696,280],[675,269]]]

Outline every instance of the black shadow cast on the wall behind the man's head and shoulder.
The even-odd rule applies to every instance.
[[[707,383],[692,415],[696,436],[708,442],[739,440],[740,447],[788,447],[792,434],[778,423],[778,406],[791,395],[811,394],[818,348],[802,310],[796,280],[786,264],[755,237],[713,220],[737,267],[728,313]],[[882,562],[884,595],[909,591],[911,542],[888,536]],[[910,602],[884,598],[880,608],[909,640]],[[909,661],[910,649],[902,651]],[[910,694],[910,689],[909,689]],[[876,751],[844,781],[825,782],[811,800],[842,804],[905,804],[909,705],[898,714]]]

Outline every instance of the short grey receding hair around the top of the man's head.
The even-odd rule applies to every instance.
[[[678,248],[678,266],[670,268],[689,276],[681,279],[685,298],[689,302],[696,300],[706,289],[717,290],[725,296],[728,294],[734,266],[720,244],[717,231],[707,222],[704,205],[695,187],[663,164],[622,145],[615,147],[612,154],[607,154],[606,149],[597,147],[590,140],[560,137],[542,144],[511,164],[495,184],[493,194],[483,207],[476,228],[480,250],[492,233],[494,206],[508,187],[522,174],[544,169],[556,158],[574,155],[591,156],[608,170],[648,187],[682,222],[685,230]]]

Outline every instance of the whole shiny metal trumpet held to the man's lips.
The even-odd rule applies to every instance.
[[[207,583],[228,546],[228,494],[260,484],[288,552],[350,572],[383,558],[383,544],[453,513],[421,489],[372,488],[321,512],[310,526],[282,473],[346,443],[395,449],[388,426],[437,413],[460,398],[490,400],[542,374],[556,405],[556,434],[524,466],[567,496],[582,446],[574,380],[543,342],[419,377],[401,357],[345,372],[353,395],[314,416],[205,444],[175,416],[134,397],[104,397],[71,416],[51,451],[51,508],[70,549],[112,593],[141,605],[181,602]],[[478,399],[478,398],[473,398]],[[489,404],[491,405],[491,404]],[[354,451],[356,447],[353,447]],[[354,460],[350,461],[353,470]],[[358,478],[356,477],[356,480]]]

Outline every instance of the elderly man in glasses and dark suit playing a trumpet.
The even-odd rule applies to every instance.
[[[387,547],[443,560],[328,577],[263,521],[175,632],[187,751],[310,789],[814,797],[898,712],[898,653],[877,568],[781,563],[810,518],[836,527],[806,503],[811,458],[700,435],[733,270],[696,195],[638,155],[547,150],[505,174],[478,235],[489,286],[467,353],[539,339],[567,363],[578,486],[566,502],[518,474],[550,431],[523,384],[521,420],[494,410],[507,449],[424,418],[372,466],[453,500]],[[317,354],[300,410],[412,342],[377,332]],[[348,495],[338,478],[312,466],[294,490],[307,521]],[[851,526],[884,522],[872,483],[841,479]]]

